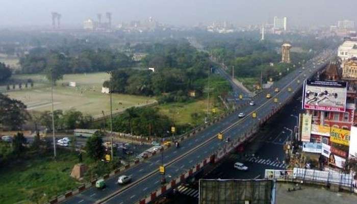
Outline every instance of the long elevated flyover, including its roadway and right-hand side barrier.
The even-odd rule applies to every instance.
[[[210,162],[219,161],[235,147],[256,133],[262,123],[281,109],[302,87],[304,79],[312,77],[318,70],[326,65],[326,60],[333,58],[334,50],[326,50],[286,77],[274,83],[271,89],[253,97],[256,106],[241,106],[236,112],[220,119],[181,141],[181,147],[170,147],[164,152],[166,167],[165,185],[160,184],[161,174],[158,172],[161,156],[154,155],[142,162],[137,162],[133,167],[121,171],[106,180],[107,188],[98,190],[95,187],[87,190],[77,190],[65,196],[62,203],[148,203],[158,196],[180,184],[194,173],[205,168]],[[275,93],[274,88],[279,88]],[[291,91],[288,91],[291,88]],[[267,93],[271,98],[267,99]],[[275,100],[276,98],[276,100]],[[238,113],[244,112],[246,117],[239,118]],[[256,118],[251,114],[257,113]],[[219,142],[217,134],[223,132],[231,141]],[[116,184],[119,175],[131,175],[132,183],[120,186]],[[73,195],[74,194],[74,195]],[[58,200],[53,201],[53,203]]]

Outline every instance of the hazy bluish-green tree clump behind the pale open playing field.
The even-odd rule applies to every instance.
[[[58,50],[34,48],[20,58],[22,73],[84,73],[109,71],[133,65],[132,56],[110,49],[85,49],[75,55],[66,55]],[[56,78],[55,78],[56,79]]]

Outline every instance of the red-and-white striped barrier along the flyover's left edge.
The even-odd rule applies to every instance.
[[[239,108],[241,108],[241,107],[242,107],[242,106],[239,106]],[[186,134],[183,134],[182,136],[177,136],[176,139],[179,140],[179,141],[183,141],[183,140],[185,140],[185,139],[187,139],[187,138],[189,138],[189,137],[192,137],[192,136],[196,135],[197,133],[199,133],[199,132],[201,132],[201,131],[203,131],[203,130],[206,130],[207,127],[209,127],[209,126],[211,126],[211,125],[213,125],[213,124],[215,124],[215,123],[221,121],[221,120],[224,119],[225,117],[230,116],[230,115],[233,114],[234,112],[235,112],[235,111],[231,111],[231,112],[228,112],[228,113],[226,113],[226,114],[222,114],[222,115],[220,115],[220,116],[217,116],[217,117],[216,117],[214,120],[212,120],[211,122],[209,122],[209,123],[207,123],[207,124],[200,125],[200,126],[196,127],[195,129],[193,129],[191,132],[186,133]],[[173,139],[173,138],[170,137],[170,138],[168,138],[168,139]],[[148,158],[150,158],[150,157],[152,157],[152,156],[155,156],[156,154],[159,154],[161,151],[166,150],[166,149],[169,148],[170,146],[171,146],[171,144],[163,145],[163,148],[161,148],[161,149],[159,149],[159,150],[157,150],[157,151],[154,151],[154,152],[152,152],[152,153],[150,153],[150,154],[147,154],[147,155],[143,156],[141,159],[136,159],[135,161],[133,161],[133,162],[131,162],[131,163],[129,163],[129,164],[123,166],[123,167],[120,167],[120,168],[118,168],[118,169],[116,169],[116,170],[110,172],[109,174],[105,174],[105,175],[103,175],[103,176],[101,176],[101,177],[95,178],[95,179],[93,179],[91,182],[88,182],[88,183],[86,183],[86,184],[83,184],[83,185],[81,185],[81,186],[79,186],[79,187],[77,187],[77,188],[74,188],[74,189],[70,190],[70,191],[66,191],[66,192],[63,193],[63,194],[58,195],[58,196],[56,196],[56,197],[54,197],[54,198],[48,200],[47,203],[55,204],[55,203],[58,203],[58,202],[61,202],[61,201],[65,200],[65,199],[67,199],[67,198],[69,198],[69,197],[71,197],[71,196],[73,196],[73,195],[79,194],[79,193],[81,193],[81,192],[83,192],[83,191],[85,191],[85,190],[91,188],[92,186],[94,186],[94,185],[95,185],[95,182],[96,182],[97,180],[99,180],[99,179],[108,179],[109,177],[114,176],[115,174],[118,174],[118,173],[120,173],[120,172],[123,172],[123,171],[125,171],[125,170],[127,170],[127,169],[129,169],[129,168],[131,168],[131,167],[133,167],[133,166],[135,166],[135,165],[137,165],[138,163],[143,162],[143,161],[147,160]],[[206,163],[205,163],[205,164],[206,164]],[[186,178],[185,178],[185,179],[186,179]]]

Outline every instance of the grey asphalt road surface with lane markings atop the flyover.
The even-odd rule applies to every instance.
[[[334,51],[331,50],[328,55],[324,55],[322,57],[324,59],[329,59],[330,57],[334,56],[334,54]],[[316,59],[314,60],[317,62]],[[316,69],[317,68],[319,68],[319,66],[316,66]],[[195,136],[181,142],[180,148],[171,147],[167,149],[164,152],[164,163],[167,164],[170,161],[176,160],[175,162],[166,165],[167,179],[169,180],[179,176],[182,172],[185,172],[196,163],[212,155],[212,152],[223,146],[225,142],[218,142],[215,138],[213,138],[213,136],[231,126],[236,121],[238,121],[237,124],[234,124],[230,129],[224,132],[225,137],[229,136],[232,139],[238,138],[242,133],[251,129],[253,126],[256,126],[259,123],[259,118],[268,115],[276,106],[276,103],[274,103],[272,100],[273,98],[269,100],[265,98],[266,93],[270,93],[273,97],[277,97],[279,101],[286,100],[292,94],[291,92],[287,91],[287,87],[291,86],[293,89],[296,89],[298,87],[297,82],[294,81],[296,78],[300,80],[299,85],[301,85],[303,79],[305,78],[303,77],[303,74],[306,74],[306,77],[309,77],[309,75],[313,74],[314,71],[310,72],[309,69],[314,69],[312,62],[308,62],[305,65],[305,69],[295,70],[284,77],[282,80],[276,82],[273,87],[278,87],[281,90],[278,94],[274,93],[273,88],[265,90],[254,99],[254,101],[256,101],[256,106],[245,106],[238,111],[248,114],[258,109],[257,119],[252,119],[251,117],[240,119],[238,118],[238,114],[231,114],[230,116],[222,119],[220,122],[211,125],[206,130],[199,132]],[[194,147],[197,148],[194,151],[186,154]],[[114,176],[106,180],[106,189],[98,190],[92,187],[80,194],[71,197],[63,203],[93,203],[96,200],[103,199],[104,197],[117,191],[120,192],[118,192],[114,197],[108,199],[106,203],[136,203],[148,193],[160,187],[159,181],[161,174],[158,172],[160,158],[160,155],[156,155],[145,160],[143,163],[139,163],[138,165],[117,175],[131,175],[133,182],[140,181],[135,185],[128,184],[126,186],[119,186],[116,184],[117,176]],[[151,174],[150,176],[146,176],[154,171],[155,173]]]

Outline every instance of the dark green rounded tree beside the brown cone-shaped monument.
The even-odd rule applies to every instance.
[[[103,146],[103,140],[97,135],[93,135],[87,139],[86,151],[90,158],[94,160],[103,159],[105,147]]]

